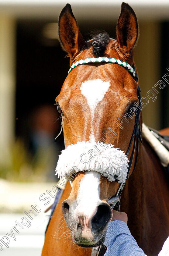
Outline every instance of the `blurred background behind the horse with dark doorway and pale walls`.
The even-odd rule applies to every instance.
[[[95,28],[116,38],[119,0],[68,1],[85,40]],[[139,21],[135,48],[141,97],[169,73],[169,2],[126,1]],[[39,200],[57,183],[54,170],[63,136],[56,96],[67,76],[69,59],[60,47],[57,20],[67,1],[0,0],[0,239],[31,204],[42,210],[29,229],[10,239],[2,255],[40,255],[49,205]],[[169,85],[143,109],[143,121],[157,130],[169,126]],[[12,242],[13,240],[13,242]],[[35,242],[36,241],[36,242]],[[27,250],[25,250],[27,248]],[[0,248],[1,249],[1,248]]]

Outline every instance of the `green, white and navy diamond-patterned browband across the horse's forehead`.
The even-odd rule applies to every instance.
[[[68,74],[71,72],[71,70],[74,67],[77,67],[81,64],[96,63],[96,62],[106,62],[106,63],[118,64],[118,65],[124,67],[129,73],[131,73],[132,76],[134,76],[138,79],[137,73],[127,62],[121,61],[119,59],[107,58],[107,57],[87,58],[87,59],[78,60],[78,61],[73,63],[73,65],[71,66],[71,68],[68,71]]]

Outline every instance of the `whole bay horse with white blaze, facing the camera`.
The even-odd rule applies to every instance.
[[[91,255],[91,247],[104,242],[112,216],[108,202],[116,195],[124,177],[119,178],[121,171],[114,176],[110,174],[110,169],[109,172],[102,172],[100,168],[98,172],[95,159],[101,151],[98,147],[101,140],[104,141],[101,146],[109,145],[112,149],[114,145],[112,152],[120,152],[120,158],[130,149],[127,157],[131,166],[126,174],[129,179],[122,192],[120,210],[127,213],[129,229],[144,253],[157,255],[169,234],[169,187],[164,167],[146,140],[143,139],[143,144],[139,146],[134,139],[131,140],[135,133],[141,140],[142,129],[142,116],[137,119],[136,114],[139,105],[134,105],[138,103],[140,90],[134,77],[134,70],[137,73],[137,69],[133,65],[133,49],[138,38],[136,14],[128,4],[122,3],[116,40],[103,33],[84,41],[69,4],[60,13],[58,23],[60,42],[70,57],[71,66],[71,72],[56,98],[63,121],[65,152],[69,152],[63,155],[60,168],[64,172],[64,168],[69,168],[69,162],[79,161],[80,155],[84,157],[81,157],[84,166],[88,166],[85,163],[90,160],[94,161],[94,165],[91,167],[89,163],[86,169],[75,164],[71,166],[77,167],[78,171],[74,172],[72,188],[67,183],[53,212],[42,256]],[[99,57],[114,58],[118,65],[102,61],[87,62],[87,59]],[[83,60],[86,61],[81,65]],[[126,63],[124,65],[130,67],[130,72],[133,70],[132,75],[119,65],[119,61]],[[136,126],[138,130],[134,130]],[[85,148],[94,144],[95,148],[89,150],[87,155]],[[102,150],[101,156],[106,155],[106,150]],[[107,157],[108,154],[105,162]],[[99,166],[105,164],[100,158],[97,159],[101,161]],[[128,166],[128,163],[125,165]]]

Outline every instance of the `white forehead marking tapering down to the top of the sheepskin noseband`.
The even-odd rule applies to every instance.
[[[95,108],[99,101],[103,99],[105,93],[108,91],[110,87],[109,82],[104,82],[101,79],[95,79],[90,81],[85,81],[81,85],[81,93],[88,101],[88,105],[91,109],[91,134],[90,134],[90,142],[95,142],[94,131],[93,131],[93,119]]]

